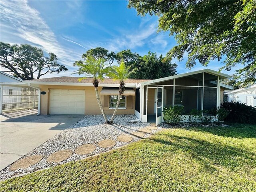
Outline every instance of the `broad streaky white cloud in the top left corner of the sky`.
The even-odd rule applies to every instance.
[[[80,58],[76,52],[63,48],[58,43],[54,32],[41,18],[40,13],[28,5],[27,0],[1,2],[1,29],[6,28],[5,26],[8,26],[10,33],[38,45],[45,52],[53,52],[66,66],[71,67]],[[12,42],[12,36],[9,36],[8,42]]]

